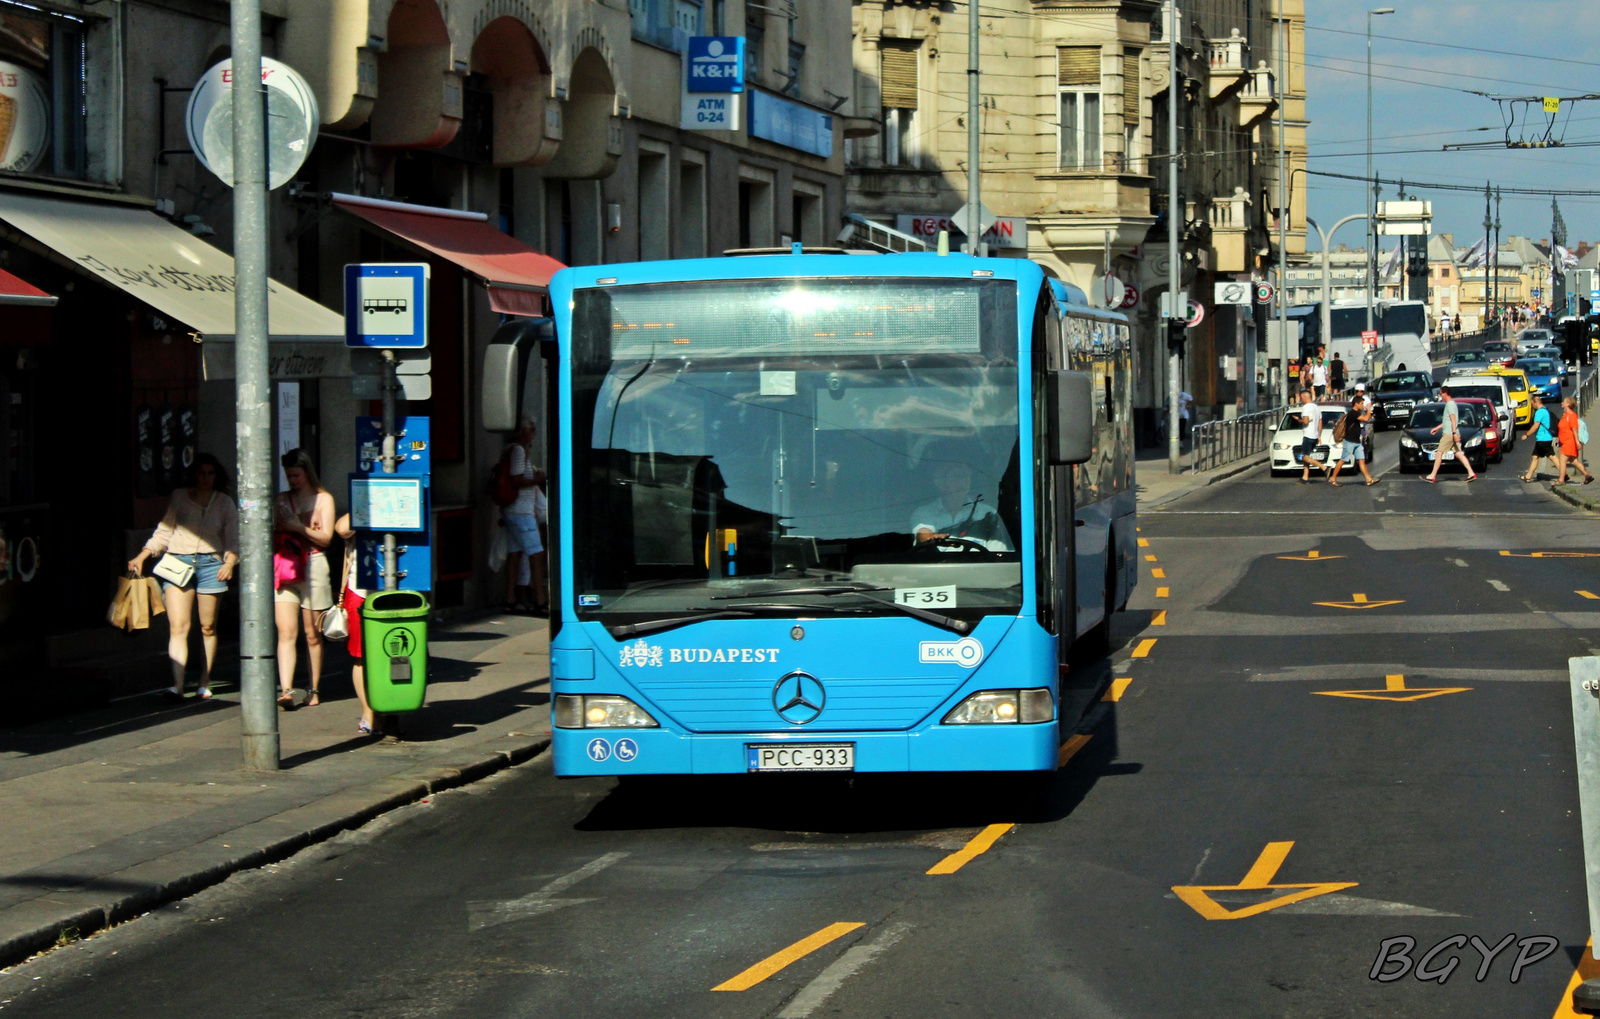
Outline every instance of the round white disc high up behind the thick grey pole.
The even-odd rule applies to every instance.
[[[306,165],[322,117],[306,78],[272,58],[261,58],[267,93],[267,190],[283,187]],[[184,118],[189,146],[205,168],[234,186],[234,61],[222,61],[200,77],[189,93]]]

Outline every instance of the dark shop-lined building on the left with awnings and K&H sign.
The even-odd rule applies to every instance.
[[[715,34],[747,40],[750,115],[701,131],[683,51]],[[432,424],[419,552],[446,606],[494,597],[480,496],[502,437],[475,421],[478,365],[549,272],[837,235],[846,0],[262,0],[262,50],[322,112],[270,200],[275,442],[310,450],[342,507],[374,395],[342,267],[427,261],[432,395],[410,413]],[[0,0],[0,662],[91,646],[70,633],[187,458],[232,467],[232,192],[184,131],[227,53],[219,0]],[[51,498],[91,448],[96,498]]]

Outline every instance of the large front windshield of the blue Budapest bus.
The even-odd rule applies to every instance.
[[[579,290],[571,350],[581,617],[1021,608],[1014,282]]]

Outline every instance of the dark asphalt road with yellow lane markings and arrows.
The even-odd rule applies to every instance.
[[[1120,699],[1043,782],[539,760],[0,976],[3,1009],[1555,1016],[1587,936],[1565,670],[1600,653],[1600,558],[1534,553],[1600,537],[1512,462],[1429,486],[1394,442],[1373,488],[1258,470],[1146,513],[1118,649],[1078,675]],[[1466,939],[1507,934],[1475,979]],[[1461,961],[1371,979],[1400,936]]]

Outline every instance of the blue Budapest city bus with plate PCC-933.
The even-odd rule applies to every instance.
[[[1058,766],[1069,651],[1136,579],[1123,315],[931,253],[587,266],[550,301],[491,341],[483,416],[542,358],[557,774]]]

